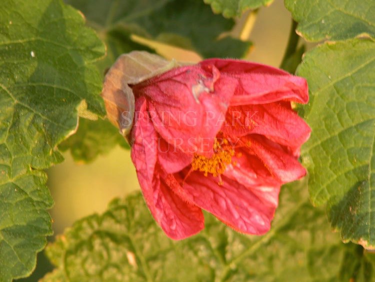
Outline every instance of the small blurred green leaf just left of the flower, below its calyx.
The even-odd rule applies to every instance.
[[[88,163],[98,155],[108,153],[117,144],[129,149],[118,129],[107,120],[79,119],[77,132],[60,143],[58,148],[70,150],[74,161]]]

